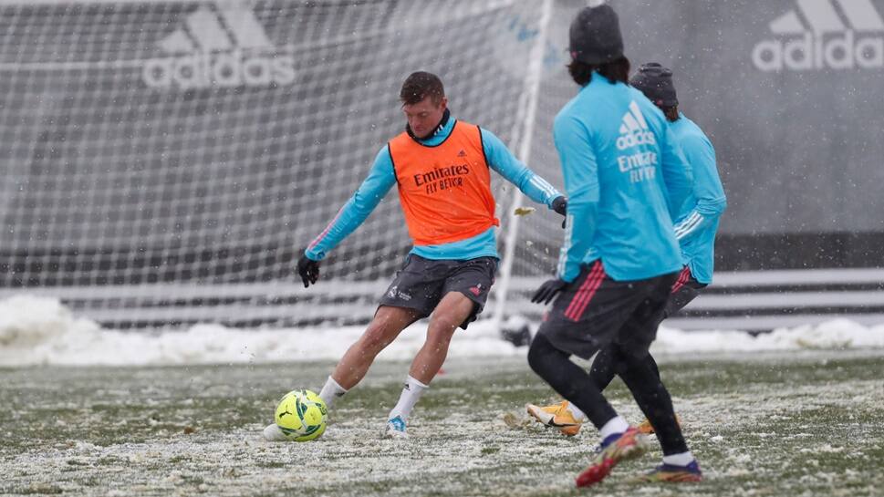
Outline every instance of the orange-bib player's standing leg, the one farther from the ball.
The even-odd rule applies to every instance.
[[[423,390],[428,388],[432,378],[442,368],[442,363],[448,356],[448,346],[451,344],[454,331],[470,316],[474,306],[472,300],[459,292],[451,292],[442,297],[442,301],[436,306],[430,318],[427,339],[411,362],[409,376],[405,379],[405,388],[402,388],[399,402],[390,411],[384,436],[406,436],[405,425],[411,409],[418,399],[421,399]]]

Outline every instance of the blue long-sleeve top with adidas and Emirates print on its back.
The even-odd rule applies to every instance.
[[[614,280],[681,270],[672,219],[693,188],[669,123],[641,92],[593,73],[556,116],[568,197],[558,276],[598,259]]]

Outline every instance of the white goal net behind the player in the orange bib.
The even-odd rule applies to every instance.
[[[0,0],[0,290],[117,327],[368,319],[409,249],[395,192],[319,285],[294,266],[402,129],[412,71],[561,188],[550,129],[581,3],[552,5]],[[508,236],[522,200],[494,193],[505,318],[551,274],[561,229],[538,209]]]

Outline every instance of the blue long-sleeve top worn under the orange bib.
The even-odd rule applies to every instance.
[[[421,140],[421,144],[433,147],[447,140],[454,129],[455,119],[448,122],[437,130],[430,138]],[[513,183],[519,190],[532,201],[546,204],[552,208],[552,203],[557,197],[562,196],[556,188],[546,180],[528,169],[525,164],[516,159],[512,152],[506,148],[504,142],[494,136],[494,133],[482,129],[482,145],[485,152],[485,160],[488,165]],[[353,193],[344,207],[328,224],[328,227],[310,243],[305,251],[307,257],[315,261],[321,261],[331,252],[338,243],[341,243],[350,233],[353,233],[360,224],[364,223],[369,214],[378,206],[378,203],[390,192],[396,184],[396,172],[390,160],[388,146],[384,146],[375,156],[369,176],[362,181],[359,189]],[[468,260],[476,257],[500,257],[497,253],[497,240],[494,227],[484,233],[466,240],[438,245],[413,246],[411,254],[433,260]]]

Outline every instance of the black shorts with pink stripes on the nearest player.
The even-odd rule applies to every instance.
[[[559,350],[584,359],[610,343],[644,355],[657,337],[677,275],[620,282],[605,273],[601,261],[584,266],[556,297],[538,333]]]

